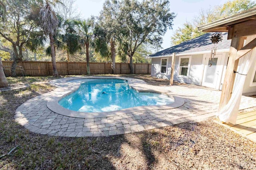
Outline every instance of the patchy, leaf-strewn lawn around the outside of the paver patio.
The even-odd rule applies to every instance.
[[[167,80],[150,76],[132,77],[168,85]],[[15,110],[30,98],[53,90],[47,84],[53,77],[11,79],[33,84],[24,91],[0,93],[0,155],[19,146],[1,158],[0,169],[256,169],[256,143],[214,123],[214,118],[110,137],[31,133],[14,121]]]

